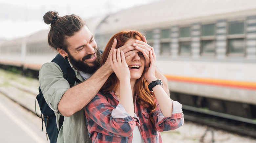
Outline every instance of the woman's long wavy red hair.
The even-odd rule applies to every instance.
[[[115,34],[113,37],[111,37],[111,39],[108,41],[106,45],[106,48],[102,54],[100,66],[102,66],[106,62],[109,52],[111,50],[112,44],[114,42],[114,39],[117,39],[117,46],[116,46],[116,49],[117,49],[123,46],[124,43],[130,39],[137,39],[142,41],[142,35],[138,31],[121,31]],[[150,117],[150,120],[155,125],[155,122],[152,118],[152,113],[153,111],[156,110],[156,107],[157,107],[156,103],[154,102],[155,96],[154,96],[154,93],[149,91],[149,89],[147,88],[148,82],[143,75],[144,73],[141,75],[139,79],[137,79],[134,86],[135,93],[137,94],[136,100],[137,100],[137,103],[139,103],[140,105],[150,109],[151,112],[149,113],[150,115],[149,117]],[[114,92],[116,92],[118,85],[119,85],[119,80],[116,74],[112,73],[107,79],[107,81],[105,82],[105,84],[101,87],[100,91],[103,93],[109,93],[114,90]]]

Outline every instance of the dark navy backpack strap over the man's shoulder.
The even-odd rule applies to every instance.
[[[69,82],[70,87],[72,87],[75,84],[75,81],[78,83],[82,82],[75,76],[75,71],[70,66],[68,59],[63,58],[63,56],[58,54],[57,56],[55,56],[55,58],[53,58],[52,62],[55,62],[60,66],[63,72],[63,77]],[[60,127],[63,125],[63,121],[64,116],[60,116],[59,130]]]

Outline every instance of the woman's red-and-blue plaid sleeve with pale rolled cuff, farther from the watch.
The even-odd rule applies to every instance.
[[[138,117],[131,117],[121,104],[111,105],[100,92],[85,107],[89,133],[125,137],[132,134],[139,123]]]

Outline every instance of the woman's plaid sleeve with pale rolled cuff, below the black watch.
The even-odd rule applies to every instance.
[[[157,104],[157,109],[153,112],[156,130],[159,132],[175,130],[183,125],[184,115],[182,113],[182,105],[177,101],[172,100],[173,112],[171,117],[163,116],[157,99],[154,101]]]

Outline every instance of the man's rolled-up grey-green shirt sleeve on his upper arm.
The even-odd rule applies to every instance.
[[[53,62],[42,65],[39,71],[39,84],[47,104],[55,113],[62,95],[70,88],[68,81],[63,78],[61,68]]]

